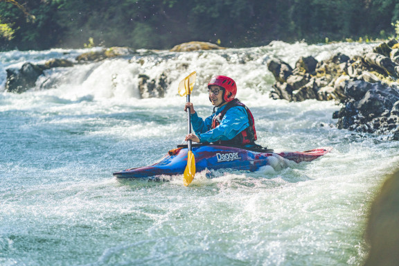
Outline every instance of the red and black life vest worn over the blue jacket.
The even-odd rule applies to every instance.
[[[220,125],[220,122],[222,121],[224,115],[229,111],[231,107],[244,107],[245,110],[247,111],[247,116],[248,116],[248,121],[249,121],[249,127],[247,127],[245,130],[242,130],[242,132],[238,133],[237,136],[235,136],[233,139],[230,139],[229,141],[216,141],[215,143],[219,144],[230,144],[230,145],[246,145],[249,143],[255,143],[257,136],[256,136],[256,130],[255,130],[255,121],[254,121],[254,116],[252,116],[251,111],[249,111],[248,107],[245,106],[243,103],[240,102],[238,99],[234,99],[231,102],[229,102],[226,107],[218,114],[217,116],[213,116],[212,119],[212,129]]]

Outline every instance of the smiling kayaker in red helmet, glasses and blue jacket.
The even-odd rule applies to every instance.
[[[248,107],[236,98],[236,82],[227,76],[215,76],[208,84],[209,100],[213,114],[203,120],[195,112],[193,103],[186,103],[184,111],[190,108],[191,124],[195,134],[186,135],[185,141],[229,145],[256,145],[254,116]]]

